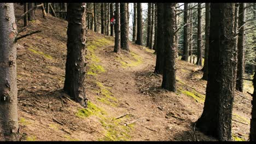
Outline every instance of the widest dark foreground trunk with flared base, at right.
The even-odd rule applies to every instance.
[[[234,3],[211,3],[210,49],[205,106],[196,123],[206,135],[231,140],[234,99]]]

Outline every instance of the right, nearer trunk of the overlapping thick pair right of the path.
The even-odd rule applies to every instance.
[[[165,3],[164,6],[164,29],[165,57],[164,74],[162,76],[162,88],[176,92],[176,70],[175,70],[175,3]]]

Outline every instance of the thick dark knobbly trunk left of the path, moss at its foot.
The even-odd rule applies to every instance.
[[[67,61],[64,91],[86,106],[86,4],[69,3],[67,8]]]

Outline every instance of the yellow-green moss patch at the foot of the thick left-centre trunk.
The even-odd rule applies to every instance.
[[[105,115],[106,112],[97,107],[95,104],[92,104],[91,101],[88,101],[86,109],[79,109],[75,115],[80,118],[89,117],[91,115]]]

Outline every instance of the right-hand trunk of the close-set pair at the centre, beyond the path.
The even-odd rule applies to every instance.
[[[128,25],[127,25],[127,4],[120,3],[120,23],[121,23],[121,49],[129,51]]]

